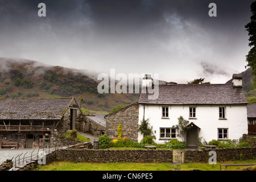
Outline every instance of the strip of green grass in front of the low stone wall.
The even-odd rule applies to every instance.
[[[53,162],[39,168],[39,171],[190,171],[200,169],[202,171],[220,171],[220,164],[242,164],[256,163],[254,160],[243,160],[224,162],[217,164],[208,163],[73,163],[73,162]],[[222,167],[222,171],[241,171],[248,166],[229,166],[228,169]]]

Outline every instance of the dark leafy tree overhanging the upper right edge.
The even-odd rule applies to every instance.
[[[253,68],[253,71],[251,72],[251,75],[254,75],[254,84],[253,86],[256,87],[256,1],[251,3],[251,13],[253,14],[251,16],[251,21],[246,24],[245,28],[246,31],[248,31],[249,38],[249,46],[252,47],[249,51],[249,53],[246,55],[246,61],[247,65],[246,67]]]

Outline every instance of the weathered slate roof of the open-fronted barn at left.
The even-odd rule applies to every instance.
[[[61,119],[73,98],[2,98],[0,119]]]

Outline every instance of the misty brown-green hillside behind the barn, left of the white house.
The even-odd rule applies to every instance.
[[[139,94],[98,94],[98,82],[76,69],[51,66],[38,61],[0,57],[2,98],[75,97],[78,104],[93,111],[111,111],[129,105]]]

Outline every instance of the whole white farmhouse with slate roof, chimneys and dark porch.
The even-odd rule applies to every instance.
[[[147,77],[147,79],[152,79]],[[147,81],[147,80],[143,80]],[[164,143],[177,137],[175,125],[182,116],[189,121],[188,147],[199,146],[199,138],[239,139],[247,134],[247,100],[242,89],[241,74],[233,75],[232,84],[176,84],[159,86],[159,96],[148,99],[142,93],[139,98],[139,123],[149,119],[156,143]],[[147,82],[148,83],[148,82]],[[146,84],[148,85],[148,84]],[[148,85],[152,86],[152,85]],[[138,134],[138,141],[143,136]]]

